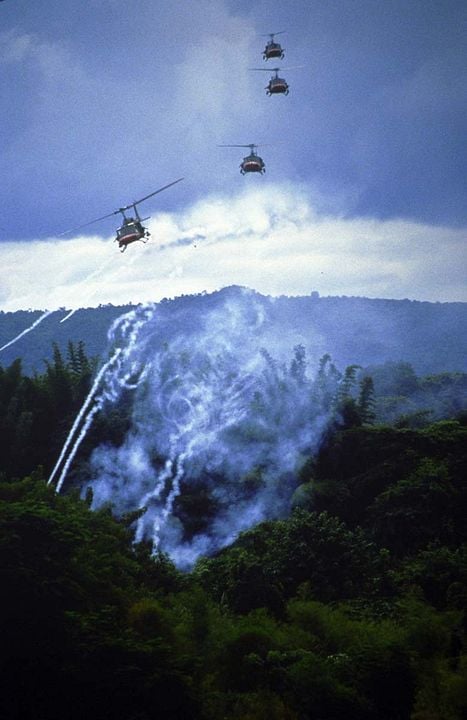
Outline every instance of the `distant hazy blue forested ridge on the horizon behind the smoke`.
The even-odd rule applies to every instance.
[[[269,342],[279,340],[288,350],[306,347],[315,363],[325,353],[345,367],[403,360],[418,374],[467,371],[466,303],[429,303],[410,300],[372,300],[358,297],[270,298],[242,288],[225,288],[210,295],[191,295],[157,304],[164,318],[174,318],[179,330],[189,328],[199,316],[222,306],[226,299],[260,305]],[[84,341],[90,355],[101,355],[107,346],[111,323],[131,306],[101,306],[74,313],[48,316],[16,344],[2,352],[3,365],[21,357],[25,372],[44,369],[55,342],[64,352],[69,341]],[[39,311],[0,313],[0,347],[41,316]],[[161,343],[165,338],[161,338]]]

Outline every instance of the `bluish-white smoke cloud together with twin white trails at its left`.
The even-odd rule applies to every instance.
[[[303,334],[285,318],[276,334],[280,300],[235,288],[196,298],[203,312],[192,300],[181,298],[169,312],[138,306],[114,322],[101,387],[93,386],[79,413],[81,429],[75,421],[57,485],[94,415],[123,414],[124,429],[111,441],[94,437],[87,469],[71,482],[92,490],[94,508],[140,511],[136,539],[181,567],[285,516],[303,458],[330,425],[416,409],[416,400],[377,406],[373,379],[359,365],[341,373],[329,354],[318,363],[319,334],[307,347],[293,345]],[[408,367],[386,367],[394,392],[414,375]],[[384,385],[384,366],[378,382]]]

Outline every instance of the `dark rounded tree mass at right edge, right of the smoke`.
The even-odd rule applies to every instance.
[[[398,554],[467,540],[467,428],[377,426],[338,432],[321,448],[312,506],[368,530]]]

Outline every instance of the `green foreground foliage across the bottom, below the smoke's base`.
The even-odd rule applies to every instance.
[[[326,513],[263,523],[192,576],[133,545],[132,519],[40,476],[0,484],[6,720],[463,719],[463,612],[421,591],[453,594],[465,549],[391,570],[411,594],[381,616],[389,556]]]

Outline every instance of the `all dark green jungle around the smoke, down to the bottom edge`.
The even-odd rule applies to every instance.
[[[79,343],[0,369],[2,718],[467,718],[464,375],[349,366],[290,515],[181,573],[46,486],[94,370]]]

